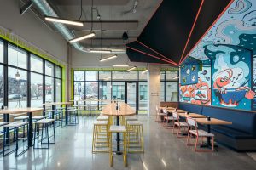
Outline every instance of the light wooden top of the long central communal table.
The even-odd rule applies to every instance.
[[[104,116],[132,116],[136,114],[136,111],[123,102],[119,102],[119,110],[116,110],[116,103],[105,105],[102,109]]]

